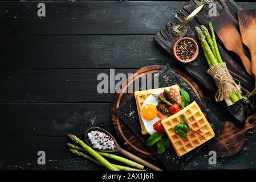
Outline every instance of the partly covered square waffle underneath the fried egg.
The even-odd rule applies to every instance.
[[[156,92],[157,90],[164,90],[164,89],[169,90],[169,88],[173,88],[178,93],[180,93],[180,86],[178,86],[178,85],[168,86],[168,87],[165,87],[165,88],[136,91],[134,93],[135,100],[136,100],[136,105],[137,105],[137,110],[138,110],[138,114],[139,114],[139,118],[140,118],[141,133],[143,135],[148,134],[147,130],[145,129],[144,123],[141,119],[141,115],[140,115],[140,110],[141,110],[141,106],[143,105],[143,102],[146,100],[146,98],[148,96],[150,96],[152,93]]]

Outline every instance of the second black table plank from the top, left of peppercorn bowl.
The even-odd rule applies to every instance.
[[[153,35],[0,36],[0,42],[0,69],[141,68],[176,63],[157,46]]]

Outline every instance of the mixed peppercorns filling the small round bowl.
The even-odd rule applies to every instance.
[[[196,46],[194,45],[192,40],[184,39],[177,44],[176,55],[181,60],[185,60],[185,61],[190,60],[194,57],[195,53],[196,53]]]

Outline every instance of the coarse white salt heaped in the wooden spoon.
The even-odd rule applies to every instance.
[[[104,132],[93,130],[87,135],[94,148],[99,150],[114,150],[116,148],[114,140]]]

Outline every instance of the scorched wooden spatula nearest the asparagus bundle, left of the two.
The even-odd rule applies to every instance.
[[[225,48],[237,54],[240,57],[246,72],[253,76],[251,71],[251,61],[243,51],[242,38],[236,27],[238,26],[237,20],[228,13],[222,13],[212,20],[212,24],[214,31],[218,35],[218,38],[221,39]]]

